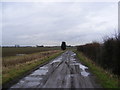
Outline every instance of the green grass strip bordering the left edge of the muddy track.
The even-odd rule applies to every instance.
[[[59,51],[59,52],[56,52],[56,53],[52,54],[51,56],[42,58],[40,60],[35,59],[35,60],[29,61],[29,62],[26,62],[26,63],[18,64],[14,67],[9,66],[8,68],[6,68],[6,70],[2,74],[2,85],[5,86],[5,84],[7,84],[8,82],[24,75],[25,73],[27,73],[31,69],[36,68],[37,66],[39,66],[41,64],[44,64],[44,63],[56,58],[61,53],[63,53],[63,52]],[[4,70],[4,68],[3,68],[3,70]]]

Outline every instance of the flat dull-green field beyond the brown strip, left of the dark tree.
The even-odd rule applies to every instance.
[[[31,54],[49,50],[60,50],[60,47],[3,47],[2,57],[16,56],[16,54]]]

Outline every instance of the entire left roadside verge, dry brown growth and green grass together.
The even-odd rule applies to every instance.
[[[44,64],[57,55],[62,53],[60,50],[44,51],[24,56],[4,57],[2,64],[2,84],[6,86],[10,81],[21,77],[26,72]]]

